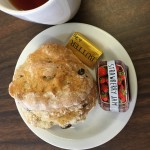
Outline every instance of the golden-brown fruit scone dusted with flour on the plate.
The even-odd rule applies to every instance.
[[[97,99],[86,66],[55,43],[41,46],[16,69],[9,93],[27,122],[40,128],[65,128],[84,120]]]

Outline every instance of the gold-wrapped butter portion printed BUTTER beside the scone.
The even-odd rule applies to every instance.
[[[75,32],[66,45],[73,53],[87,66],[93,67],[98,58],[102,55],[102,50],[97,48],[79,32]]]

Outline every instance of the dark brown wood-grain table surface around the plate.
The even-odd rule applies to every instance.
[[[128,124],[112,140],[93,150],[149,150],[150,0],[82,0],[69,22],[91,24],[110,33],[125,47],[137,73],[137,103]],[[0,12],[0,150],[60,149],[29,130],[8,94],[19,55],[35,35],[48,27]]]

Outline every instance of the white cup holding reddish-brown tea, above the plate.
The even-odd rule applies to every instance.
[[[0,0],[0,10],[20,19],[55,25],[70,20],[78,11],[81,0],[49,0],[31,10],[17,10],[9,0]]]

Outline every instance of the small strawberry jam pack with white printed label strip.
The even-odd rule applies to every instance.
[[[128,67],[120,60],[99,61],[97,85],[100,106],[107,111],[129,108]]]

